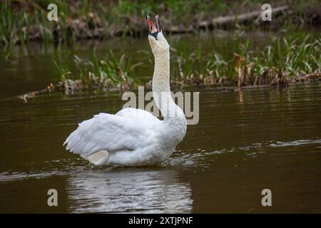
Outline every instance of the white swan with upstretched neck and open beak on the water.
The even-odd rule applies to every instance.
[[[99,113],[81,122],[63,145],[94,165],[155,165],[170,157],[185,136],[185,114],[170,94],[170,46],[159,16],[156,24],[149,16],[146,21],[155,58],[153,98],[163,120],[146,110],[124,108],[115,115]]]

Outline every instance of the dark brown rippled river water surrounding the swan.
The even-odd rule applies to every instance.
[[[145,39],[128,42],[135,41],[132,56],[148,50]],[[109,42],[98,49],[126,52],[123,41]],[[25,56],[0,59],[0,212],[321,212],[320,85],[195,88],[200,122],[188,126],[172,157],[152,167],[92,167],[63,141],[81,120],[121,109],[121,94],[55,93],[23,103],[15,95],[57,77],[55,49],[43,49],[31,45]],[[75,52],[90,56],[91,45]],[[47,205],[51,188],[58,207]],[[266,188],[272,207],[261,204]]]

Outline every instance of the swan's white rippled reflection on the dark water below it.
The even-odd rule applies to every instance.
[[[71,212],[190,213],[190,184],[178,172],[89,170],[67,179]]]

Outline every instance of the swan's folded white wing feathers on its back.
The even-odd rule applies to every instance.
[[[144,110],[146,113],[137,111],[136,117],[129,115],[135,113],[134,110],[125,110],[116,115],[100,113],[83,121],[64,142],[66,149],[88,157],[100,150],[135,150],[148,145],[148,138],[161,121],[153,115],[153,118],[143,118],[147,113]]]

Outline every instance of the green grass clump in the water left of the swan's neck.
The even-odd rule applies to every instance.
[[[68,93],[77,90],[128,90],[138,85],[134,69],[141,63],[132,64],[131,58],[125,55],[118,59],[110,50],[108,58],[99,59],[94,47],[90,60],[86,61],[75,55],[73,61],[76,73],[69,71],[68,66],[63,67],[58,61],[54,61],[59,73],[59,86],[63,86],[63,90]]]

